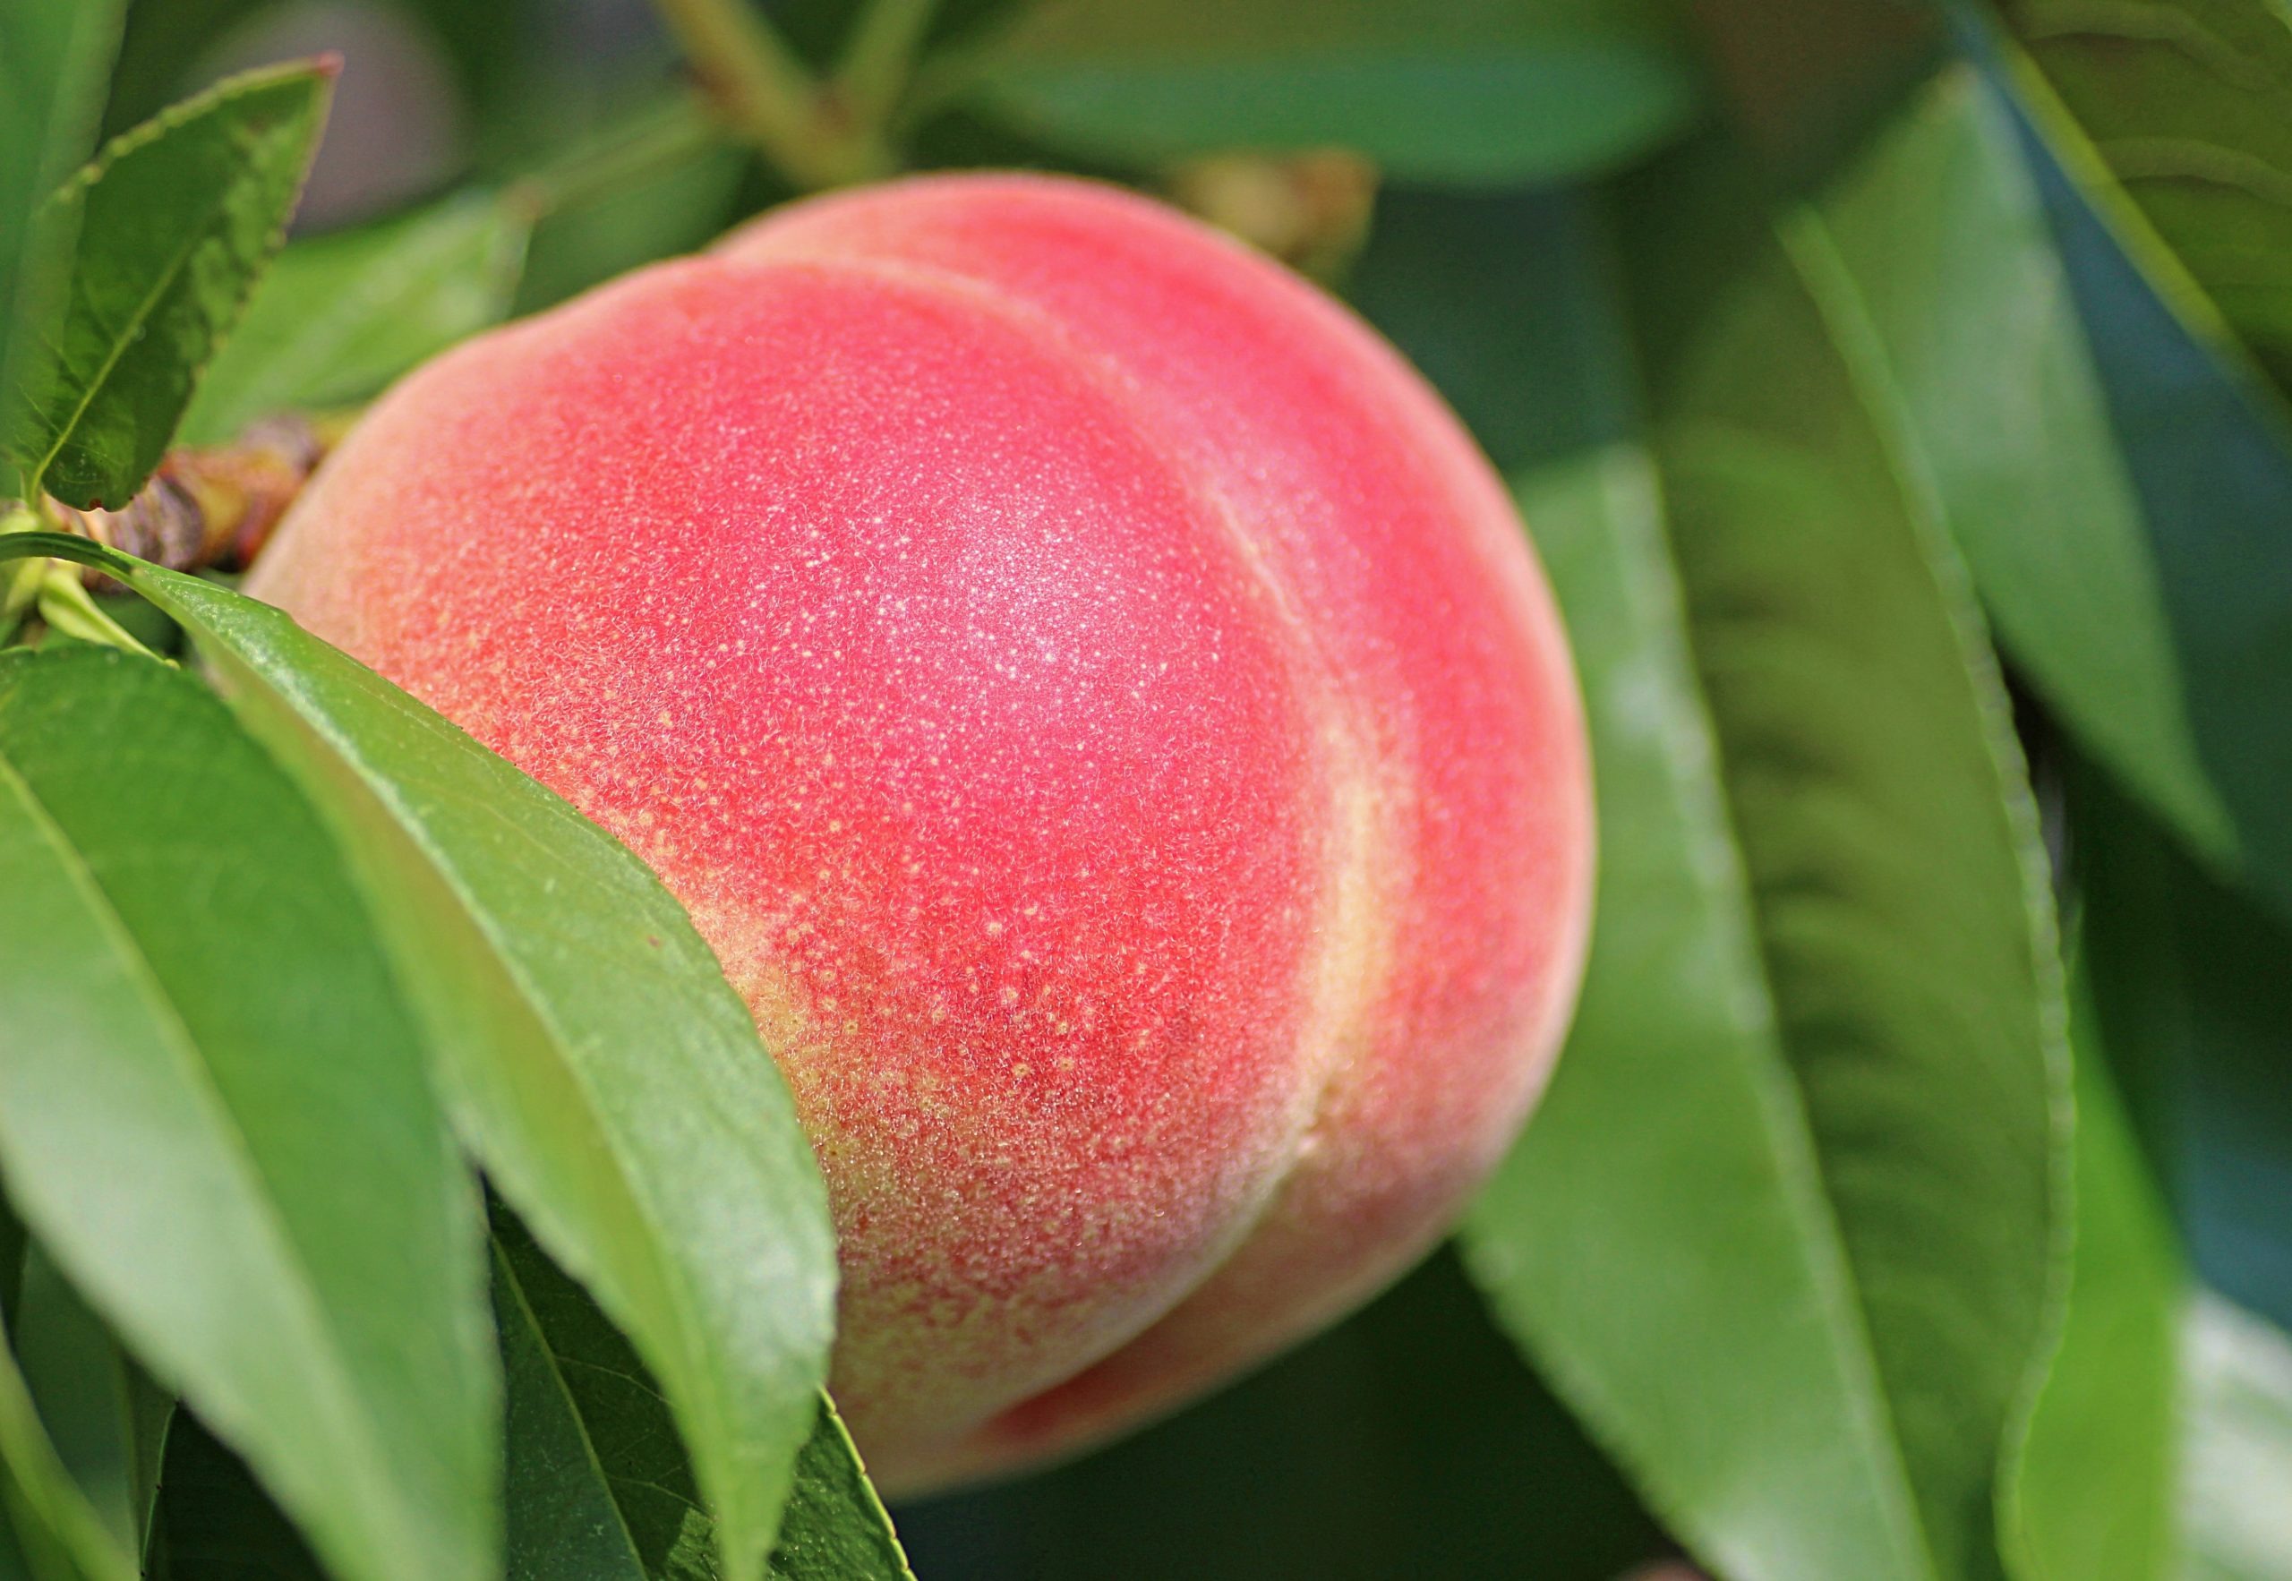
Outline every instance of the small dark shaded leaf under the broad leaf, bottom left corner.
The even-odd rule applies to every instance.
[[[172,1402],[37,1246],[25,1258],[16,1363],[57,1460],[121,1554],[142,1556]]]

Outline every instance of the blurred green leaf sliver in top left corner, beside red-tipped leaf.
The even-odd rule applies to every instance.
[[[0,7],[0,392],[28,376],[18,325],[46,323],[64,284],[71,231],[34,218],[87,158],[124,11],[126,0]]]

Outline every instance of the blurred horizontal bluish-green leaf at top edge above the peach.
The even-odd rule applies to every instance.
[[[1336,144],[1449,183],[1618,165],[1701,92],[1646,0],[1043,0],[983,73],[995,112],[1102,158]]]

